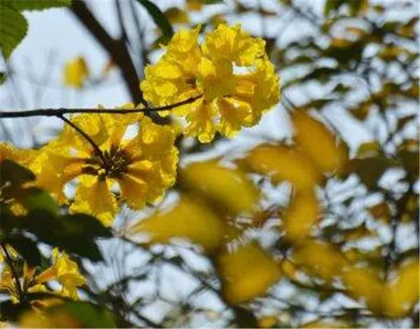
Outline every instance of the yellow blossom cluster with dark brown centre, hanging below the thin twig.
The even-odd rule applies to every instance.
[[[124,138],[127,127],[139,118],[139,114],[74,116],[71,121],[90,136],[100,153],[66,125],[62,135],[43,147],[43,154],[31,164],[38,184],[63,203],[64,185],[77,177],[70,211],[94,215],[105,225],[113,222],[120,201],[133,209],[158,201],[175,180],[178,153],[174,132],[144,117],[137,134]]]

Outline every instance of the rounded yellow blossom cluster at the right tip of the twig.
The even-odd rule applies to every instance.
[[[218,25],[200,46],[200,27],[181,30],[141,83],[153,105],[169,105],[202,95],[171,113],[188,121],[185,133],[211,142],[216,131],[231,137],[254,126],[261,114],[279,102],[279,78],[265,54],[265,41],[239,25]],[[160,112],[167,115],[169,112]]]

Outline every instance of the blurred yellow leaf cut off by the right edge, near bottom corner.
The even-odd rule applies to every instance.
[[[403,317],[419,302],[419,260],[402,265],[394,281],[388,283],[384,298],[387,316]]]

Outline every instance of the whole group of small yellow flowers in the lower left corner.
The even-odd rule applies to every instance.
[[[17,257],[13,253],[13,257]],[[23,274],[19,278],[20,288],[18,288],[16,278],[8,265],[3,266],[1,271],[0,292],[8,293],[10,300],[14,303],[20,302],[20,294],[27,293],[52,293],[45,286],[48,281],[58,281],[62,288],[55,294],[78,300],[77,288],[86,283],[86,279],[80,274],[76,262],[69,259],[66,253],[60,253],[57,248],[52,250],[52,266],[35,275],[36,267],[24,264]],[[44,301],[41,304],[48,304]],[[40,303],[38,303],[40,304]],[[46,305],[45,304],[45,305]],[[33,305],[35,306],[35,305]]]

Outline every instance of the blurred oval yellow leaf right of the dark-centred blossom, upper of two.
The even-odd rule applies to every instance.
[[[226,208],[233,215],[258,210],[258,191],[239,169],[216,161],[193,163],[182,170],[181,180],[193,192],[215,202],[217,209]]]

